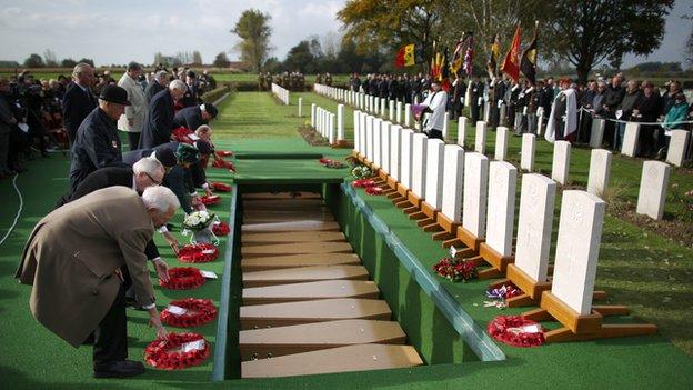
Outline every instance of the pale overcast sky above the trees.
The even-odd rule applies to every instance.
[[[92,58],[97,64],[151,63],[157,51],[198,50],[211,62],[237,42],[233,28],[253,7],[272,16],[272,56],[283,60],[309,36],[339,31],[343,0],[87,1],[0,0],[0,60],[23,62],[30,53],[56,52],[58,60]],[[662,46],[647,58],[629,56],[624,66],[643,61],[683,61],[692,0],[677,0],[666,20]],[[540,52],[541,56],[541,52]],[[234,59],[235,53],[229,53]]]

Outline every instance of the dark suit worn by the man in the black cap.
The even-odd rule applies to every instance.
[[[70,188],[77,189],[89,173],[110,166],[122,166],[118,128],[114,120],[96,108],[82,121],[72,144]]]

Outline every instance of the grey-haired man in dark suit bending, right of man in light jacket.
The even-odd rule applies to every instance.
[[[154,96],[147,111],[138,149],[149,149],[171,141],[173,102],[180,99],[187,90],[184,82],[173,80],[168,89]]]

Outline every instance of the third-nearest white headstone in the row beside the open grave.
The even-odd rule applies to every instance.
[[[491,161],[489,164],[486,243],[502,256],[512,254],[516,182],[518,169],[513,164],[506,161]]]

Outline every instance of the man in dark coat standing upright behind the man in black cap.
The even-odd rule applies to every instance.
[[[93,84],[93,68],[84,62],[74,66],[72,70],[73,81],[68,84],[67,92],[62,98],[62,121],[68,132],[70,144],[74,143],[77,129],[87,116],[97,107],[97,98],[91,93]]]

